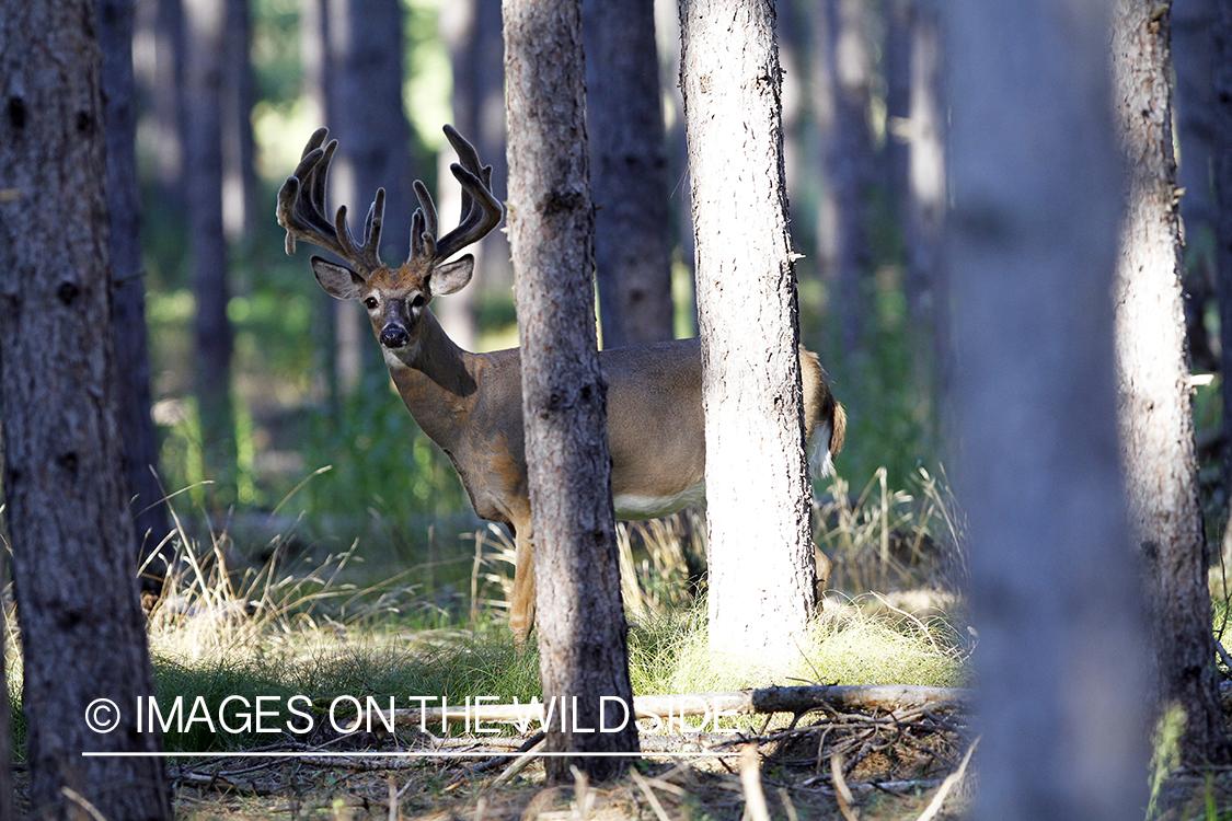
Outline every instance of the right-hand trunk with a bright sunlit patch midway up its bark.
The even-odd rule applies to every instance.
[[[1188,714],[1183,758],[1222,764],[1232,761],[1232,747],[1220,710],[1210,547],[1198,497],[1167,11],[1167,4],[1117,0],[1112,12],[1116,118],[1130,177],[1114,292],[1121,457],[1142,554],[1156,697],[1161,709],[1179,704]]]

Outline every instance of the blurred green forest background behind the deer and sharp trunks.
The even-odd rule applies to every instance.
[[[1209,71],[1202,5],[1178,2],[1173,31],[1189,342],[1195,373],[1214,374],[1216,247],[1204,176],[1212,102],[1194,91],[1205,84],[1186,84],[1186,73]],[[912,490],[922,468],[936,474],[945,460],[938,396],[954,367],[934,298],[945,284],[946,204],[936,9],[928,0],[833,0],[780,2],[777,14],[801,336],[821,353],[851,420],[838,473],[854,495],[878,484],[882,494]],[[453,159],[442,123],[495,165],[503,198],[499,1],[145,0],[136,23],[138,273],[161,486],[188,489],[172,501],[176,511],[243,547],[285,533],[302,515],[298,535],[326,549],[360,539],[361,551],[391,549],[411,564],[425,549],[430,560],[464,561],[455,535],[479,523],[461,483],[389,389],[359,308],[320,292],[307,255],[283,254],[274,203],[322,124],[341,143],[330,202],[355,210],[384,186],[391,242],[405,235],[397,220],[413,210],[411,178],[439,191],[442,212],[456,208],[448,175],[436,185]],[[647,70],[657,70],[663,101],[670,293],[631,310],[670,299],[673,332],[683,337],[696,335],[696,319],[675,4],[655,2],[654,25],[658,65]],[[594,63],[588,73],[601,70]],[[591,103],[593,144],[611,127],[602,116]],[[600,193],[596,206],[601,213]],[[479,260],[476,282],[434,310],[463,347],[511,347],[503,234],[485,240]],[[1198,384],[1214,538],[1226,521],[1227,436],[1218,382]]]

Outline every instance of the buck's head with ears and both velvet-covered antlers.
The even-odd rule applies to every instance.
[[[345,265],[319,256],[312,258],[320,287],[335,299],[362,300],[372,330],[387,352],[413,352],[424,332],[421,318],[428,303],[432,297],[463,288],[474,273],[472,255],[452,261],[450,257],[500,224],[504,212],[492,193],[492,166],[480,166],[474,146],[451,126],[445,127],[460,160],[450,171],[462,186],[462,215],[457,228],[437,236],[436,206],[428,187],[416,180],[419,208],[411,217],[410,254],[394,270],[381,261],[378,250],[384,188],[377,191],[368,208],[360,244],[346,224],[346,206],[339,207],[333,223],[326,217],[325,183],[338,149],[338,140],[322,148],[328,135],[329,130],[322,128],[308,139],[294,175],[278,192],[278,224],[287,229],[287,254],[294,254],[296,240],[302,239],[341,257]]]

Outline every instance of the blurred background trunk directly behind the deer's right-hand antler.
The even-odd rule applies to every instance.
[[[441,38],[453,68],[453,127],[466,134],[479,156],[493,165],[493,193],[505,198],[505,43],[500,0],[457,0],[441,5]],[[444,214],[461,208],[461,192],[448,172],[448,151],[440,156],[437,202]],[[463,348],[474,350],[479,335],[478,300],[485,289],[508,289],[514,273],[509,238],[493,231],[471,247],[476,272],[469,288],[432,306],[441,327]]]

